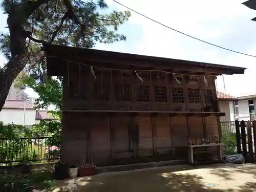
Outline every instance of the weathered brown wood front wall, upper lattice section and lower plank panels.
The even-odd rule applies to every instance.
[[[211,77],[207,78],[206,87],[203,77],[189,81],[176,76],[178,82],[172,74],[138,72],[142,82],[134,72],[95,69],[95,73],[96,78],[90,68],[67,66],[63,81],[64,111],[203,111],[206,104],[217,100]],[[139,86],[148,86],[148,94],[141,94]],[[156,87],[163,94],[156,95]],[[196,90],[199,97],[191,96],[189,89]],[[98,165],[161,155],[166,159],[186,158],[187,138],[219,136],[218,123],[219,117],[215,116],[64,112],[61,158],[67,163],[80,164],[85,156],[87,162],[93,159]]]

